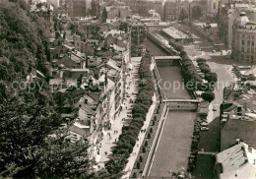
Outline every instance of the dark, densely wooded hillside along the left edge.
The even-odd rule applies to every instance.
[[[41,90],[19,88],[34,68],[47,76],[47,35],[47,23],[25,2],[0,3],[0,178],[88,174],[87,146],[60,132],[63,121],[44,79],[32,82]]]

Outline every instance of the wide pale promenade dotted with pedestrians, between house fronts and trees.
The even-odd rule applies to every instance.
[[[130,103],[130,99],[135,100],[138,88],[136,86],[135,77],[138,74],[140,61],[131,61],[134,68],[131,71],[131,75],[127,77],[126,83],[128,84],[126,92],[129,94],[125,96],[124,102],[121,104],[123,107],[122,111],[117,114],[117,117],[114,119],[113,125],[110,130],[103,132],[103,138],[101,141],[101,148],[99,148],[99,162],[100,168],[104,167],[104,162],[107,161],[109,158],[109,154],[112,152],[112,147],[115,146],[115,142],[118,141],[119,135],[121,134],[123,124],[127,123],[127,121],[123,121],[122,119],[127,119],[127,114],[131,113],[133,103]],[[131,85],[129,86],[129,83]],[[127,108],[126,108],[127,106]]]

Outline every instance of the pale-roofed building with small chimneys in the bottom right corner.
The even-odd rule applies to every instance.
[[[248,143],[249,144],[249,143]],[[256,176],[256,150],[240,143],[216,155],[215,178],[252,179]]]

